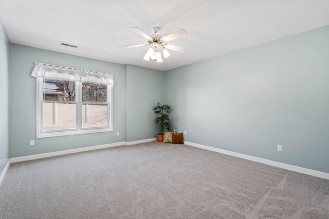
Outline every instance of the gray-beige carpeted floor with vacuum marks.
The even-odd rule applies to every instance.
[[[0,218],[329,218],[329,181],[151,142],[11,164]]]

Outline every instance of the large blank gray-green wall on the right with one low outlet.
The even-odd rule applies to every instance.
[[[329,26],[166,71],[165,102],[185,141],[329,173]]]

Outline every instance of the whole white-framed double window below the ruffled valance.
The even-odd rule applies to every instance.
[[[113,84],[100,84],[103,78],[91,80],[90,75],[82,82],[58,77],[36,78],[36,138],[113,131]]]

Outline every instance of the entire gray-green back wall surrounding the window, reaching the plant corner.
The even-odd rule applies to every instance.
[[[31,76],[35,61],[113,73],[113,132],[35,139],[35,78]],[[17,44],[11,44],[10,62],[11,157],[156,137],[150,116],[153,116],[152,108],[157,101],[163,100],[163,81],[161,81],[163,72]],[[162,85],[154,92],[155,85],[152,84],[158,79]],[[126,84],[130,87],[126,88]],[[127,96],[127,105],[125,96]],[[139,128],[135,131],[128,128],[125,133],[125,118],[127,125]],[[141,126],[147,128],[140,128]],[[29,146],[30,140],[35,140],[34,146]]]

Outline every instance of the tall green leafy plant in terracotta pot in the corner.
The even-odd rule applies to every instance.
[[[169,131],[170,129],[170,118],[169,118],[169,113],[170,113],[170,106],[167,104],[165,105],[160,105],[158,102],[158,105],[154,107],[154,113],[156,115],[156,118],[154,120],[154,123],[160,126],[161,129],[161,134],[158,134],[158,142],[163,141],[163,132],[166,130]]]

